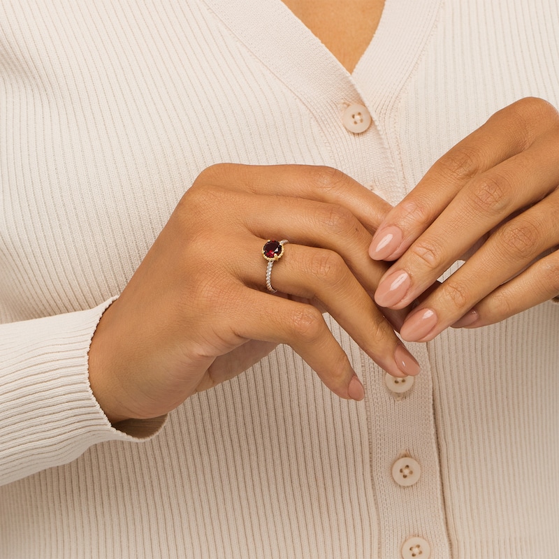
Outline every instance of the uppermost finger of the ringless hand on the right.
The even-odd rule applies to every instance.
[[[495,113],[479,129],[444,154],[419,184],[386,215],[369,254],[398,259],[473,177],[527,150],[557,126],[558,113],[542,99],[521,99]]]

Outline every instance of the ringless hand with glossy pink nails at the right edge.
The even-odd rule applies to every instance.
[[[396,260],[377,304],[402,309],[420,298],[402,338],[486,326],[557,296],[558,185],[559,113],[542,99],[496,112],[444,154],[370,245],[372,259]],[[437,284],[459,259],[467,261]]]

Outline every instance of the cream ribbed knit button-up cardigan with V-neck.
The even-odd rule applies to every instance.
[[[201,170],[330,165],[396,203],[496,110],[559,106],[558,28],[556,0],[386,0],[349,75],[279,0],[0,3],[0,558],[559,558],[551,302],[410,344],[403,395],[328,319],[364,402],[288,347],[164,426],[112,428],[87,382]]]

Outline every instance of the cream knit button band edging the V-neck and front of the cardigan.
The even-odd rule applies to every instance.
[[[282,3],[274,5],[273,17],[277,24],[270,27],[261,25],[262,21],[270,19],[271,5],[268,6],[268,3],[248,0],[245,3],[247,8],[243,8],[250,10],[251,17],[247,18],[239,17],[236,3],[223,0],[204,2],[210,5],[212,13],[224,20],[228,29],[231,29],[240,41],[249,48],[254,44],[259,45],[254,54],[261,59],[266,68],[295,92],[298,99],[308,108],[310,121],[313,126],[316,124],[329,152],[329,158],[325,156],[318,159],[317,163],[339,168],[362,184],[367,181],[373,182],[382,189],[382,197],[386,201],[392,205],[398,203],[405,194],[405,181],[402,180],[403,171],[394,160],[392,148],[397,144],[394,136],[400,131],[397,125],[401,118],[397,114],[398,104],[389,102],[396,99],[387,97],[386,93],[400,92],[400,76],[404,75],[405,68],[409,66],[407,62],[410,57],[406,53],[412,52],[407,41],[405,49],[402,49],[402,56],[398,59],[397,73],[393,72],[393,62],[386,66],[386,60],[389,59],[386,52],[398,45],[393,44],[393,38],[387,41],[386,38],[383,39],[382,34],[377,34],[375,43],[384,45],[383,51],[375,57],[375,52],[379,52],[376,45],[375,48],[369,49],[368,56],[363,57],[356,73],[349,75],[333,59],[331,53],[324,48],[318,48],[316,37],[307,33],[303,26],[300,26],[300,29],[304,30],[304,33],[298,32],[299,28],[296,27],[288,39],[284,28],[293,27],[293,14],[287,9],[280,9]],[[414,39],[414,44],[417,44],[415,51],[418,54],[423,52],[421,41],[427,36],[428,29],[425,24],[419,26],[418,22],[434,20],[435,11],[426,10],[423,0],[410,4],[412,11],[405,10],[404,13],[398,2],[386,4],[383,17],[387,15],[393,20],[401,20],[404,13],[413,14],[413,17],[408,15],[404,20],[409,22],[407,34]],[[293,40],[293,36],[296,40]],[[278,48],[278,45],[281,48]],[[314,56],[300,57],[300,52],[303,51],[313,52]],[[293,60],[298,60],[298,64],[293,64]],[[370,60],[373,60],[374,64],[371,64]],[[415,58],[412,61],[415,64]],[[382,80],[377,80],[378,68],[382,70]],[[390,87],[387,88],[386,84],[390,84]],[[367,112],[374,123],[363,126],[366,115],[364,116],[360,110],[350,111],[352,103],[367,105]],[[343,122],[346,111],[348,126]],[[403,117],[405,118],[405,115]],[[363,126],[362,131],[358,131],[360,126]],[[433,384],[426,349],[421,346],[417,351],[423,354],[421,361],[424,369],[421,382],[415,382],[412,392],[407,391],[403,397],[394,392],[388,394],[386,388],[377,384],[374,389],[368,391],[368,398],[365,398],[363,403],[368,421],[372,491],[382,495],[382,498],[377,500],[375,509],[379,542],[382,542],[379,557],[398,557],[402,542],[410,533],[421,533],[421,519],[425,514],[430,518],[430,528],[426,535],[431,541],[431,546],[436,550],[437,556],[449,556],[444,544],[446,527],[442,514],[444,508],[440,475],[437,470],[437,441],[433,435],[436,433]],[[377,365],[363,354],[361,358],[365,383],[372,384],[375,382],[373,379],[383,382],[382,372]],[[410,398],[410,395],[413,395],[413,398]],[[418,458],[421,458],[423,465],[421,491],[406,491],[387,476],[393,460],[401,456],[402,449],[415,448],[414,442],[419,437],[422,444]],[[400,520],[405,516],[409,517],[410,514],[416,518],[416,522],[411,528],[407,528]],[[423,559],[422,556],[420,558]]]

